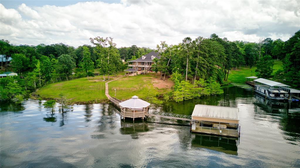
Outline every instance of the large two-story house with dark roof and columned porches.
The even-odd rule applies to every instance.
[[[127,62],[128,66],[132,67],[136,71],[151,72],[151,66],[155,63],[153,61],[154,58],[160,59],[161,56],[158,54],[158,52],[152,51],[146,55],[141,56],[138,59]]]

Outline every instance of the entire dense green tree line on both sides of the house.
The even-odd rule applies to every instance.
[[[62,80],[90,77],[94,68],[103,75],[116,74],[127,68],[122,59],[137,59],[151,51],[150,48],[116,48],[113,38],[90,38],[92,45],[77,48],[62,43],[37,46],[10,45],[0,41],[0,54],[6,60],[11,57],[11,68],[18,77],[1,78],[0,100],[19,102],[37,88]],[[300,30],[289,40],[259,39],[256,42],[229,41],[216,34],[209,38],[186,37],[181,43],[168,45],[161,42],[156,51],[161,59],[154,59],[152,70],[160,73],[161,80],[172,75],[176,101],[199,95],[218,94],[220,84],[228,80],[231,70],[241,66],[257,65],[258,77],[274,78],[300,88]],[[282,70],[272,76],[273,60],[283,62]],[[7,62],[1,68],[7,70]],[[105,80],[105,78],[104,78]],[[167,99],[167,98],[166,98]]]

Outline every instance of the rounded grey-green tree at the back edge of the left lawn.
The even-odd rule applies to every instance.
[[[73,69],[76,67],[73,58],[70,55],[63,54],[58,57],[57,63],[58,73],[64,74],[66,79],[68,80],[68,76],[72,74]]]

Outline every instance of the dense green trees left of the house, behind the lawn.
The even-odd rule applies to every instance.
[[[112,41],[112,38],[106,38],[104,43],[112,44]],[[47,83],[93,76],[94,68],[100,66],[106,68],[100,72],[103,75],[117,74],[127,68],[115,45],[84,45],[78,48],[62,43],[15,46],[10,45],[7,40],[1,40],[0,49],[0,54],[6,60],[12,58],[10,67],[7,67],[6,62],[1,68],[18,73],[18,76],[1,78],[0,100],[13,100],[17,103]]]

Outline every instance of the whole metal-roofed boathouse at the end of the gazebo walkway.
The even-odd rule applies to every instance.
[[[239,137],[238,108],[195,105],[192,132]]]

